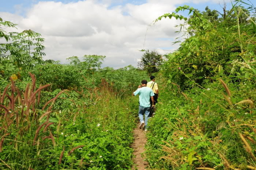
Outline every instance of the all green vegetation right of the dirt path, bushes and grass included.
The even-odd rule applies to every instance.
[[[176,12],[189,19],[158,18],[185,19],[189,36],[158,75],[165,86],[147,134],[152,168],[255,169],[256,11],[244,3],[221,17],[183,6]]]

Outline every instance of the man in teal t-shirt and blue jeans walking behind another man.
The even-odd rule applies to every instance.
[[[142,129],[145,125],[145,131],[147,131],[147,121],[150,114],[150,98],[153,101],[152,107],[154,105],[154,93],[151,88],[147,87],[147,80],[141,81],[141,86],[132,93],[132,95],[136,96],[139,94],[139,118],[140,118],[140,129]],[[143,119],[143,114],[145,114],[145,121]]]

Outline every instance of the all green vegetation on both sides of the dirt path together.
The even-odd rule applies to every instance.
[[[101,68],[97,55],[44,61],[39,33],[5,32],[16,25],[0,18],[0,169],[131,169],[130,94],[152,73],[152,169],[256,169],[256,9],[240,0],[223,9],[185,5],[160,16],[184,20],[185,40],[165,60],[142,50],[143,70]]]

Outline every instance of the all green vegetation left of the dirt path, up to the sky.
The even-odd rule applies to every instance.
[[[130,169],[130,93],[146,72],[101,68],[97,55],[43,61],[40,34],[2,27],[15,24],[0,22],[0,169]]]

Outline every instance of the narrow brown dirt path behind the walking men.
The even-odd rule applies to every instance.
[[[146,138],[146,132],[142,131],[142,129],[139,129],[139,125],[136,129],[134,129],[134,143],[132,144],[132,148],[134,149],[133,155],[134,158],[134,166],[132,167],[133,170],[146,170],[148,167],[147,161],[145,161],[144,158],[141,157],[141,153],[145,151],[145,144],[147,142]],[[145,155],[145,154],[144,154]]]

